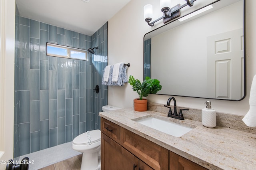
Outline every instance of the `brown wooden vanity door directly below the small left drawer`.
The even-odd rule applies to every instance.
[[[138,165],[138,158],[101,133],[102,170],[139,170]]]

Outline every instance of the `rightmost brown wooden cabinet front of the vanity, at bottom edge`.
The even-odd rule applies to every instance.
[[[170,151],[170,170],[207,170],[206,168]]]

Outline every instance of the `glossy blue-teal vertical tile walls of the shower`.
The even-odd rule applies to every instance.
[[[98,112],[107,104],[107,87],[100,85],[107,65],[107,23],[87,36],[21,17],[16,10],[15,33],[14,158],[100,128]],[[47,56],[46,42],[99,48],[82,61]]]

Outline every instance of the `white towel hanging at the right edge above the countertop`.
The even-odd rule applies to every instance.
[[[248,127],[256,127],[256,75],[252,80],[249,105],[250,109],[242,120]]]

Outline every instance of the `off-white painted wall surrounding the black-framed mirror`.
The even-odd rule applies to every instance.
[[[197,2],[194,2],[196,4]],[[156,0],[131,0],[108,21],[108,63],[130,63],[128,76],[143,79],[143,37],[150,30],[162,26],[158,22],[153,28],[143,19],[143,6],[153,4],[154,19],[161,16],[160,3]],[[245,115],[249,109],[249,95],[252,78],[256,74],[256,1],[246,0],[246,97],[242,101],[213,100],[212,108],[218,112]],[[108,87],[108,104],[122,108],[133,106],[136,92],[127,84],[124,87]],[[150,95],[149,101],[165,104],[170,96]],[[178,106],[202,109],[207,99],[175,97]]]

